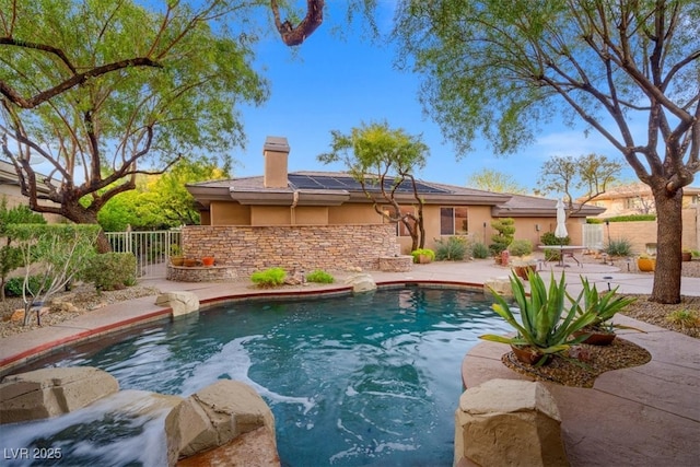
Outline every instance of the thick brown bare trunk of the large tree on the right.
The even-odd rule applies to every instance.
[[[682,249],[682,189],[668,194],[665,185],[652,187],[656,202],[656,269],[652,302],[680,303]]]

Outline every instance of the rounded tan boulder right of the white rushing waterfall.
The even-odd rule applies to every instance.
[[[177,457],[223,446],[259,428],[275,440],[275,418],[265,400],[244,383],[218,381],[189,396],[166,417],[168,462],[173,465]],[[277,448],[271,456],[277,456]]]

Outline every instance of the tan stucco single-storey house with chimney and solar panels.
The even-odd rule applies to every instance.
[[[257,250],[268,248],[280,249],[282,237],[291,236],[298,243],[282,248],[285,253],[273,255],[278,261],[291,261],[295,267],[312,267],[320,260],[316,248],[299,245],[311,235],[320,240],[326,249],[348,245],[350,250],[368,250],[370,245],[382,245],[359,260],[348,259],[361,267],[376,266],[380,256],[407,255],[410,253],[411,238],[407,232],[395,223],[388,223],[373,207],[362,187],[348,173],[343,172],[288,172],[290,147],[285,138],[268,137],[262,155],[265,170],[261,176],[242,177],[229,180],[212,180],[188,185],[187,189],[195,197],[201,214],[201,227],[258,229],[256,235],[273,234],[275,242],[265,242],[265,246],[244,242],[244,247]],[[468,235],[472,241],[491,243],[494,231],[491,221],[498,218],[515,219],[515,237],[527,238],[533,244],[539,243],[545,232],[553,232],[556,227],[556,200],[537,197],[498,194],[453,185],[444,185],[425,180],[417,183],[419,196],[424,201],[423,219],[425,227],[425,247],[434,248],[435,243],[452,235]],[[399,188],[397,201],[401,209],[416,210],[417,202],[412,188]],[[586,215],[596,215],[600,208],[583,207],[568,220],[568,229],[573,244],[581,244],[582,224]],[[269,229],[277,229],[269,231]],[[184,241],[188,235],[184,232]],[[268,229],[267,232],[264,229]],[[282,230],[280,230],[282,229]],[[318,230],[326,230],[318,235]],[[377,237],[366,236],[375,232]],[[191,230],[190,230],[191,232]],[[351,232],[341,241],[340,232]],[[201,237],[197,235],[198,241]],[[249,238],[248,238],[249,240]],[[196,248],[197,242],[189,245]],[[228,241],[223,241],[228,242]],[[277,245],[277,246],[275,246]],[[315,245],[319,245],[316,243]],[[188,245],[184,245],[187,249]],[[233,247],[233,245],[232,245]],[[298,255],[300,248],[310,248],[305,255]],[[253,253],[253,252],[250,252]],[[236,261],[231,253],[220,252],[223,262]],[[351,255],[345,252],[343,255]],[[293,257],[290,259],[290,256]],[[352,256],[352,255],[351,255]],[[373,257],[372,257],[373,256]],[[336,260],[325,260],[327,266],[339,266]]]

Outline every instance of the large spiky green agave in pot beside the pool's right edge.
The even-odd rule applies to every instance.
[[[582,342],[586,335],[574,336],[574,332],[591,325],[596,319],[593,312],[579,312],[576,302],[565,303],[571,297],[567,294],[564,275],[557,282],[553,273],[549,290],[541,277],[529,272],[530,294],[527,296],[521,279],[513,273],[510,278],[513,299],[520,308],[521,322],[515,319],[509,302],[491,290],[495,303],[493,311],[513,327],[513,337],[487,334],[480,339],[508,343],[515,355],[523,362],[533,365],[548,363],[552,355],[568,350],[571,346]]]

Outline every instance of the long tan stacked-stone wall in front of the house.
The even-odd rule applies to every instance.
[[[361,225],[188,225],[186,258],[213,256],[235,267],[236,277],[273,267],[296,271],[377,269],[378,259],[399,253],[394,224]]]

